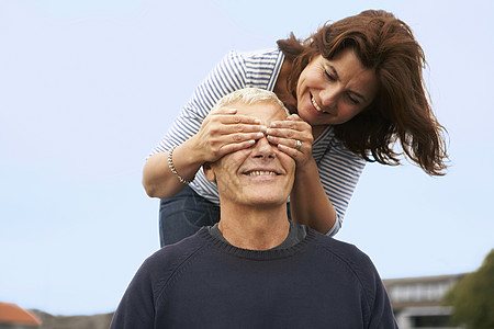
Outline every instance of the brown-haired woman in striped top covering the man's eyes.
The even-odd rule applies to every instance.
[[[146,161],[143,184],[161,198],[161,245],[220,219],[217,190],[201,166],[263,135],[296,162],[291,219],[328,235],[340,228],[366,161],[400,163],[395,143],[428,174],[444,174],[444,128],[424,65],[409,27],[384,11],[324,25],[302,42],[292,34],[278,49],[229,53]],[[235,109],[209,115],[218,99],[246,87],[273,91],[293,114],[270,127]]]

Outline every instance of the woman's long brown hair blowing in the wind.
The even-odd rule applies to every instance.
[[[305,41],[292,33],[278,46],[292,63],[288,86],[295,98],[299,76],[312,58],[321,54],[332,59],[352,48],[380,86],[366,110],[334,126],[335,136],[368,161],[395,166],[405,154],[428,174],[445,174],[446,129],[431,110],[422,73],[424,52],[408,25],[392,13],[369,10],[325,24]]]

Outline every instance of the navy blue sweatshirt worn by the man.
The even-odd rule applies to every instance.
[[[374,265],[355,246],[307,229],[293,247],[254,251],[202,228],[143,263],[110,328],[397,327]]]

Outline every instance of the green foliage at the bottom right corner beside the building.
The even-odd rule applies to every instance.
[[[479,270],[451,287],[442,302],[453,307],[454,325],[462,324],[468,329],[494,328],[494,249]]]

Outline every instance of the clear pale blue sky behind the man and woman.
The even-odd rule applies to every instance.
[[[114,310],[159,248],[145,158],[194,87],[231,49],[366,9],[395,13],[423,46],[451,167],[369,164],[336,238],[383,279],[478,269],[494,248],[493,1],[2,0],[0,300]]]

